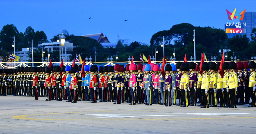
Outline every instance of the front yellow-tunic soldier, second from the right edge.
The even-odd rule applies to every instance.
[[[238,90],[238,77],[236,74],[236,63],[230,62],[228,65],[229,68],[229,78],[228,78],[228,87],[227,92],[230,95],[230,106],[229,108],[236,108],[236,92]]]

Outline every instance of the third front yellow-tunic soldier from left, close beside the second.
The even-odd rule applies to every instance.
[[[210,87],[209,87],[209,97],[211,97],[210,107],[217,107],[217,74],[215,73],[216,63],[210,63]]]

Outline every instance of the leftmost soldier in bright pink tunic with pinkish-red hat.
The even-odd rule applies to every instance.
[[[136,69],[137,69],[136,64],[131,63],[129,66],[129,70],[131,72],[130,80],[129,80],[129,90],[131,92],[132,102],[129,105],[135,105],[137,103],[137,92],[135,91],[136,84],[137,84],[137,77],[135,74]]]

